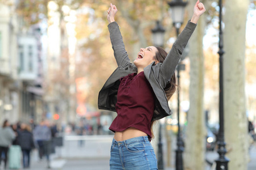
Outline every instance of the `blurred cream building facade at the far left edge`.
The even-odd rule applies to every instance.
[[[0,124],[19,118],[16,18],[11,1],[0,3]]]

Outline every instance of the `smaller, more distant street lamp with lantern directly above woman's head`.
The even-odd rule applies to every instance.
[[[164,46],[164,28],[159,21],[156,21],[156,27],[151,29],[152,31],[152,41],[154,46]],[[163,148],[162,148],[162,125],[159,124],[159,141],[158,141],[158,169],[164,169],[163,165]]]

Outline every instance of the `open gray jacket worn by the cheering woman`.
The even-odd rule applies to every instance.
[[[137,67],[130,62],[128,54],[123,44],[122,35],[116,22],[108,25],[110,40],[114,50],[114,57],[117,61],[117,69],[109,77],[98,95],[98,108],[115,112],[117,103],[117,91],[120,84],[119,79],[131,73],[137,73]],[[187,45],[189,38],[196,28],[196,24],[188,21],[184,30],[174,42],[171,51],[168,53],[163,63],[152,62],[144,68],[144,75],[150,83],[155,94],[155,111],[152,121],[170,116],[172,111],[168,106],[164,87],[170,82],[171,76],[175,72],[180,56]]]

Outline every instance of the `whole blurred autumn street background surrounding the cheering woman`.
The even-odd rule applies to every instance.
[[[147,46],[170,52],[196,1],[0,0],[0,169],[109,169],[117,113],[98,94],[117,68],[110,3],[133,62]],[[153,126],[159,170],[212,170],[219,156],[255,170],[256,0],[201,2],[173,114]]]

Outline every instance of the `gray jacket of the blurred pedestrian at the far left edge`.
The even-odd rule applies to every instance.
[[[15,133],[10,127],[0,128],[0,146],[9,147],[15,139]]]

